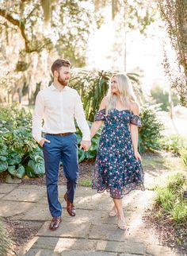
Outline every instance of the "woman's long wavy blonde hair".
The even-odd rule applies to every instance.
[[[124,103],[125,106],[128,106],[130,109],[130,103],[136,102],[135,93],[132,88],[131,80],[128,79],[128,76],[124,74],[113,74],[111,77],[110,83],[116,77],[117,87],[120,92],[120,95],[113,94],[111,90],[111,86],[109,87],[109,91],[107,93],[108,104],[107,104],[107,112],[109,109],[116,107],[117,99],[120,99],[121,103]]]

